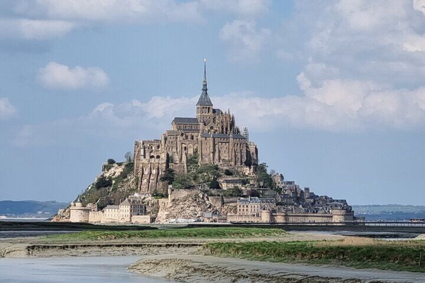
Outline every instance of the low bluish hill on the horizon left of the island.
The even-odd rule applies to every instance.
[[[35,200],[0,200],[0,215],[6,216],[48,216],[68,205],[66,202]]]

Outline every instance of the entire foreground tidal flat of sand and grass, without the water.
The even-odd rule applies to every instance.
[[[182,282],[424,282],[422,238],[385,241],[249,227],[81,231],[3,239],[0,256],[8,258],[0,264],[11,257],[62,262],[124,256],[132,259],[126,272]]]

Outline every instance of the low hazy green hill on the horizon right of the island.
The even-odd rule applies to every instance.
[[[425,218],[425,205],[370,204],[352,205],[355,216],[366,220],[403,221],[410,218]]]

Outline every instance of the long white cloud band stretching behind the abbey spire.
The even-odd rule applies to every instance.
[[[249,92],[211,97],[214,106],[235,114],[239,126],[255,132],[288,127],[332,132],[376,129],[417,130],[425,126],[425,87],[394,90],[359,80],[326,80],[317,87],[300,74],[302,96],[267,98]],[[78,144],[90,138],[153,139],[173,117],[194,117],[197,96],[152,97],[146,102],[101,103],[85,116],[26,125],[19,146]]]

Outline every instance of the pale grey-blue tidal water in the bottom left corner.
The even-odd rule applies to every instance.
[[[126,270],[140,256],[0,258],[2,283],[173,282]]]

